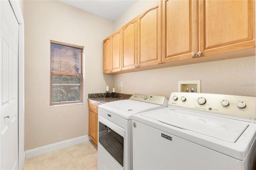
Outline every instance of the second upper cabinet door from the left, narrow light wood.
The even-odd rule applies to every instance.
[[[122,34],[121,28],[112,34],[112,70],[121,71]]]

